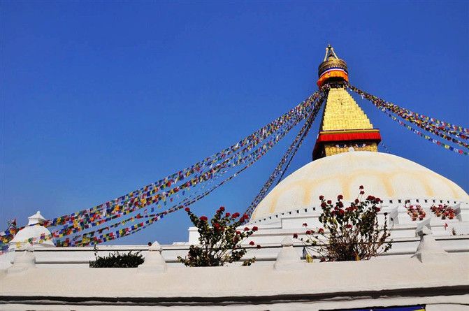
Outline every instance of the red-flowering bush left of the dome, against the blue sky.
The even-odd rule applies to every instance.
[[[257,226],[238,230],[238,226],[249,216],[240,215],[238,212],[230,214],[224,210],[223,206],[219,208],[209,222],[208,217],[197,217],[189,208],[185,209],[198,229],[199,245],[191,245],[185,258],[178,256],[180,262],[190,267],[224,266],[243,258],[247,250],[241,247],[241,243],[257,231]],[[255,244],[254,241],[249,243],[251,246]],[[260,245],[257,245],[257,248],[259,247]],[[253,257],[243,261],[243,266],[250,266],[255,259]]]

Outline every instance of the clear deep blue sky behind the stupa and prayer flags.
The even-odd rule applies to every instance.
[[[327,43],[352,84],[468,126],[468,3],[3,0],[0,229],[108,201],[247,136],[317,89]],[[469,157],[359,103],[392,153],[469,190]],[[286,139],[194,209],[245,210]],[[117,243],[187,240],[188,226],[178,212]]]

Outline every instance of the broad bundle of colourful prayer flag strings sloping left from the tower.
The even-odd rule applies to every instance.
[[[89,243],[101,243],[106,240],[111,240],[114,238],[119,238],[126,236],[135,231],[140,231],[141,228],[149,226],[153,222],[157,221],[159,218],[164,217],[168,213],[174,212],[175,210],[180,209],[180,206],[173,206],[169,210],[160,212],[156,214],[156,217],[151,218],[152,215],[147,215],[147,206],[154,203],[159,203],[164,201],[166,205],[166,199],[169,199],[171,203],[173,202],[172,196],[175,196],[176,200],[179,197],[179,192],[182,191],[182,194],[185,191],[195,187],[196,185],[203,185],[203,183],[216,180],[220,175],[229,171],[230,168],[239,166],[240,164],[249,162],[244,168],[239,170],[237,173],[231,175],[230,178],[219,183],[217,186],[212,187],[209,191],[205,191],[203,195],[196,196],[195,199],[191,199],[192,196],[187,198],[183,203],[194,203],[199,198],[205,196],[206,194],[213,191],[220,185],[223,185],[226,181],[231,180],[231,178],[236,177],[238,173],[244,171],[245,168],[252,165],[255,161],[260,159],[268,150],[270,150],[276,143],[284,137],[286,133],[290,131],[298,122],[308,117],[312,111],[312,103],[316,101],[319,97],[319,92],[315,92],[312,96],[308,97],[306,101],[303,101],[300,105],[296,106],[294,109],[290,110],[289,113],[282,115],[274,122],[270,122],[264,128],[259,129],[257,132],[253,133],[251,136],[247,136],[244,140],[240,140],[236,145],[233,145],[229,148],[226,148],[222,152],[218,152],[212,157],[204,159],[203,163],[199,162],[190,166],[190,169],[182,170],[178,173],[170,175],[164,179],[159,180],[152,185],[147,185],[137,191],[132,191],[131,193],[116,198],[114,200],[108,201],[101,205],[96,205],[94,208],[87,210],[81,210],[79,212],[74,212],[70,215],[64,215],[62,217],[57,217],[51,219],[45,223],[45,226],[57,226],[59,224],[64,224],[64,227],[52,231],[49,236],[41,237],[42,240],[50,240],[52,238],[57,239],[57,246],[66,246],[66,245],[89,245]],[[262,141],[266,140],[266,143],[261,144]],[[260,144],[260,147],[257,145]],[[256,148],[254,150],[254,148]],[[254,151],[253,151],[254,150]],[[219,163],[221,162],[221,163]],[[204,171],[206,168],[206,171]],[[190,175],[194,175],[192,179],[187,180],[186,178]],[[181,181],[185,180],[184,183]],[[179,184],[178,184],[179,182]],[[205,186],[202,186],[205,187]],[[127,215],[136,210],[145,208],[142,215],[138,213],[127,219],[123,219],[120,222],[105,226],[101,229],[94,230],[91,232],[83,233],[82,236],[75,236],[71,238],[71,235],[78,233],[80,231],[85,231],[94,226],[100,226],[106,222],[115,220],[123,215]],[[152,208],[154,210],[154,208]],[[126,229],[119,229],[115,232],[103,233],[103,231],[109,231],[118,226],[122,226],[127,222],[134,222],[140,218],[149,218],[145,222],[140,222],[136,225],[127,227]],[[96,233],[99,236],[95,236]],[[0,232],[2,237],[11,237],[9,231]],[[5,239],[2,239],[3,242],[6,242]],[[32,242],[37,242],[33,240]],[[8,247],[6,243],[1,245],[1,249]]]

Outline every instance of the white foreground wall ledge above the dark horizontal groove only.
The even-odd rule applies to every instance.
[[[382,259],[308,263],[294,270],[255,263],[250,267],[168,267],[166,273],[157,275],[136,273],[136,268],[30,268],[18,274],[3,270],[0,296],[235,297],[469,289],[469,256],[448,256],[452,260],[441,263]]]

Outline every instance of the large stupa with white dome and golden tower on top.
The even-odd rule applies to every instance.
[[[319,64],[318,75],[317,85],[329,85],[330,89],[312,152],[313,161],[270,191],[252,213],[253,224],[287,223],[291,222],[289,217],[299,217],[300,222],[305,222],[312,217],[319,225],[319,196],[334,199],[342,194],[346,201],[353,201],[361,185],[367,194],[382,198],[382,213],[401,215],[393,218],[395,224],[412,223],[406,204],[421,206],[426,211],[425,219],[433,215],[431,205],[467,207],[468,194],[451,180],[408,159],[378,152],[380,130],[374,128],[347,92],[347,63],[331,45]],[[467,231],[465,217],[459,214]],[[462,230],[460,225],[458,230]]]

